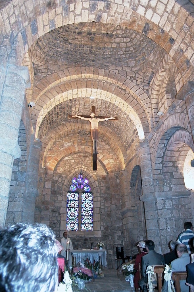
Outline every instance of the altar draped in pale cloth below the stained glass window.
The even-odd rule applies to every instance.
[[[77,265],[79,262],[84,264],[84,260],[88,257],[91,263],[94,263],[94,260],[96,262],[99,260],[101,266],[106,267],[107,265],[106,249],[74,249],[70,250],[70,253],[72,254],[74,265]]]

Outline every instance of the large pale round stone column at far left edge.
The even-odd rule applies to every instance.
[[[13,160],[20,157],[18,131],[29,86],[28,67],[7,66],[0,108],[0,227],[5,225]]]

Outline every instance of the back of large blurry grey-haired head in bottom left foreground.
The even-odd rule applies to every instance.
[[[0,230],[0,291],[54,292],[58,286],[55,234],[43,224]]]

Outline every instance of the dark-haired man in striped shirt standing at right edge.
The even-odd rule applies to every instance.
[[[185,222],[184,223],[184,231],[179,234],[179,237],[177,238],[177,241],[179,244],[183,243],[186,245],[188,252],[192,252],[192,240],[194,239],[194,232],[193,230],[193,225],[191,222]]]

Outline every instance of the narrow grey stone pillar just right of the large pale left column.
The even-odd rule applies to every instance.
[[[34,223],[35,199],[38,196],[38,173],[41,147],[42,142],[34,141],[34,135],[32,135],[23,197],[23,223]]]

